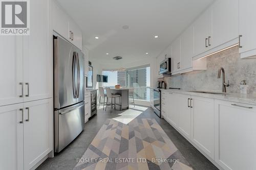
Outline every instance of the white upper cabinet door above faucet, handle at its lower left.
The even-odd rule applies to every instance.
[[[210,48],[238,38],[239,9],[238,0],[218,0],[210,7],[211,38]]]

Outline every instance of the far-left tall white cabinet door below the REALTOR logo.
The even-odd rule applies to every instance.
[[[23,102],[23,37],[0,38],[0,106]]]

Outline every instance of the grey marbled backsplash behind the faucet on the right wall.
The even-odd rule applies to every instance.
[[[206,58],[207,70],[191,71],[181,75],[164,78],[167,87],[179,87],[188,90],[222,90],[222,74],[218,79],[220,67],[225,69],[227,92],[240,92],[240,82],[246,80],[249,93],[256,92],[256,59],[240,59],[239,48],[232,47],[226,51]]]

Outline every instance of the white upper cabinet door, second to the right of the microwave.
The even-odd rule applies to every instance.
[[[181,69],[193,67],[192,57],[194,54],[194,28],[189,27],[181,35]]]

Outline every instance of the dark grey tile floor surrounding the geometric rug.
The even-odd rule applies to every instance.
[[[137,108],[138,107],[138,108]],[[130,109],[140,110],[139,106]],[[163,128],[165,133],[174,142],[178,150],[182,153],[185,159],[189,162],[191,167],[200,170],[218,169],[207,158],[205,158],[193,145],[191,145],[183,136],[179,134],[166,120],[159,118],[152,108],[144,108],[137,118],[155,118],[158,124]],[[125,110],[124,110],[125,111]],[[98,110],[98,114],[91,117],[86,123],[84,131],[73,141],[68,147],[56,154],[54,158],[48,158],[36,170],[70,170],[76,165],[76,159],[80,158],[86,152],[89,144],[94,139],[99,129],[107,118],[119,117],[120,113],[124,111],[117,111],[108,109],[106,112],[102,109]]]

